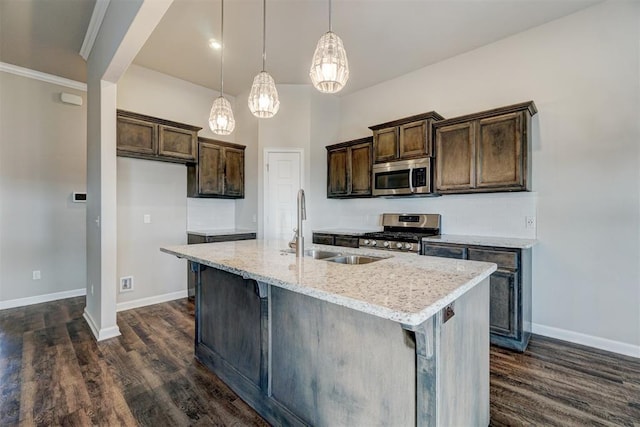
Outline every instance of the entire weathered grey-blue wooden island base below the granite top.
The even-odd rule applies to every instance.
[[[273,425],[488,425],[489,279],[403,325],[198,264],[195,354]]]

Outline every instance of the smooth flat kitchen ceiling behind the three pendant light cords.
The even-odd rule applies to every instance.
[[[113,1],[113,0],[112,0]],[[334,0],[350,80],[373,86],[541,25],[598,0]],[[329,27],[327,0],[267,1],[267,71],[276,83],[309,83],[316,43]],[[262,68],[262,1],[225,2],[225,92],[249,90]],[[219,0],[175,0],[134,63],[220,88]]]

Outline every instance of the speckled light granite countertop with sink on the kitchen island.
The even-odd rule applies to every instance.
[[[286,241],[243,240],[160,250],[410,326],[423,323],[496,270],[492,263],[414,253],[305,247],[388,257],[370,264],[345,265],[311,257],[298,259],[284,252],[285,248]]]

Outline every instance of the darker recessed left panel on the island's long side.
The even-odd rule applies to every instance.
[[[260,386],[260,297],[256,282],[214,268],[201,271],[198,346]]]

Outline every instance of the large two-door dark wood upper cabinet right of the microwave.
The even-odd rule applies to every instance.
[[[435,191],[528,191],[533,101],[434,124]]]

